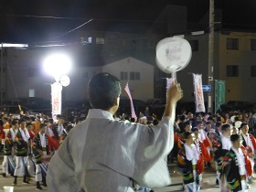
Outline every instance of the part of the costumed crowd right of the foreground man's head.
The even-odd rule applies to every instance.
[[[145,115],[147,114],[147,115]],[[129,120],[127,116],[120,119]],[[131,118],[130,118],[131,120]],[[139,113],[137,123],[154,125],[154,112]],[[175,144],[168,155],[183,174],[186,192],[197,192],[205,168],[216,170],[221,192],[247,191],[256,179],[256,112],[182,112],[176,114]]]

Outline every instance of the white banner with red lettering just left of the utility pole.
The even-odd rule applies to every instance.
[[[196,112],[206,112],[202,87],[202,74],[193,74]]]

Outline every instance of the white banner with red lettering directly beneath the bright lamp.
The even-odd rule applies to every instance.
[[[51,106],[54,120],[57,114],[61,114],[61,91],[62,86],[58,82],[51,84]]]

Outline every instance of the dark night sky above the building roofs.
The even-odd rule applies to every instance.
[[[0,0],[0,42],[55,40],[93,18],[91,27],[132,21],[149,25],[165,5],[187,5],[188,22],[208,12],[209,0]],[[215,0],[223,25],[256,28],[255,0]],[[82,29],[82,27],[80,28]]]

